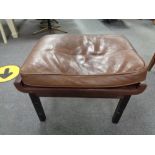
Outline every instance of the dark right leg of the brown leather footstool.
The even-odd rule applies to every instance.
[[[122,97],[119,102],[118,102],[118,105],[117,105],[117,108],[114,112],[114,115],[112,117],[112,122],[113,123],[118,123],[122,114],[123,114],[123,111],[125,109],[125,107],[127,106],[129,100],[130,100],[130,97],[131,96],[124,96]]]

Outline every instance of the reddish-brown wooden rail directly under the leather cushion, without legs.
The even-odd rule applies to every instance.
[[[142,93],[146,84],[135,84],[117,88],[51,88],[32,87],[24,85],[20,76],[14,83],[15,87],[24,93],[33,93],[40,97],[92,97],[92,98],[120,98],[125,95]]]

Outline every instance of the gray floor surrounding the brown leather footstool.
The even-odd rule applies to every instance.
[[[0,38],[0,66],[21,65],[38,38],[36,20],[16,20],[20,33],[8,44]],[[111,26],[99,20],[60,20],[69,33],[123,34],[149,62],[155,51],[155,25],[149,20],[123,20]],[[41,98],[47,121],[40,123],[27,94],[18,92],[13,80],[0,84],[0,134],[155,134],[155,72],[147,76],[147,90],[133,96],[119,124],[111,123],[118,100]]]

